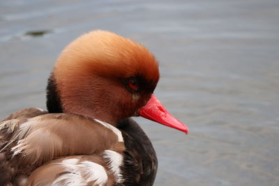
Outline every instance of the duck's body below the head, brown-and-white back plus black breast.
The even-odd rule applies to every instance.
[[[103,179],[103,183],[97,182],[96,185],[152,185],[157,171],[156,153],[140,126],[132,118],[124,119],[118,124],[121,134],[118,133],[117,136],[115,134],[117,132],[106,130],[98,122],[75,114],[49,114],[36,108],[23,109],[3,119],[0,124],[0,137],[6,141],[1,144],[0,185],[94,183],[102,178],[102,175],[93,180],[86,180],[83,177],[69,180],[76,173],[70,175],[69,168],[62,165],[63,162],[77,160],[88,162],[86,158],[89,160],[91,158],[91,162],[98,162],[105,170],[103,171],[105,175],[109,172],[113,174],[112,169],[119,169],[117,175],[107,176]],[[48,129],[43,132],[45,127]],[[64,130],[65,127],[73,128]],[[73,131],[78,131],[77,141],[68,138]],[[53,137],[56,134],[59,134],[59,139]],[[101,140],[103,138],[106,140]],[[23,144],[20,145],[18,141],[22,141]],[[92,142],[88,143],[88,141]],[[54,144],[61,144],[61,142],[63,146],[54,147]],[[28,146],[29,144],[32,146]],[[108,155],[120,157],[121,162],[119,164],[116,162],[114,164],[116,167],[110,168],[112,160],[107,158]],[[94,171],[92,169],[92,173]]]

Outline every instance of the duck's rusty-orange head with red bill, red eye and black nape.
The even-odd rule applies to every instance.
[[[188,132],[153,95],[158,62],[146,47],[108,31],[71,42],[56,61],[47,86],[47,109],[116,125],[143,116]]]

